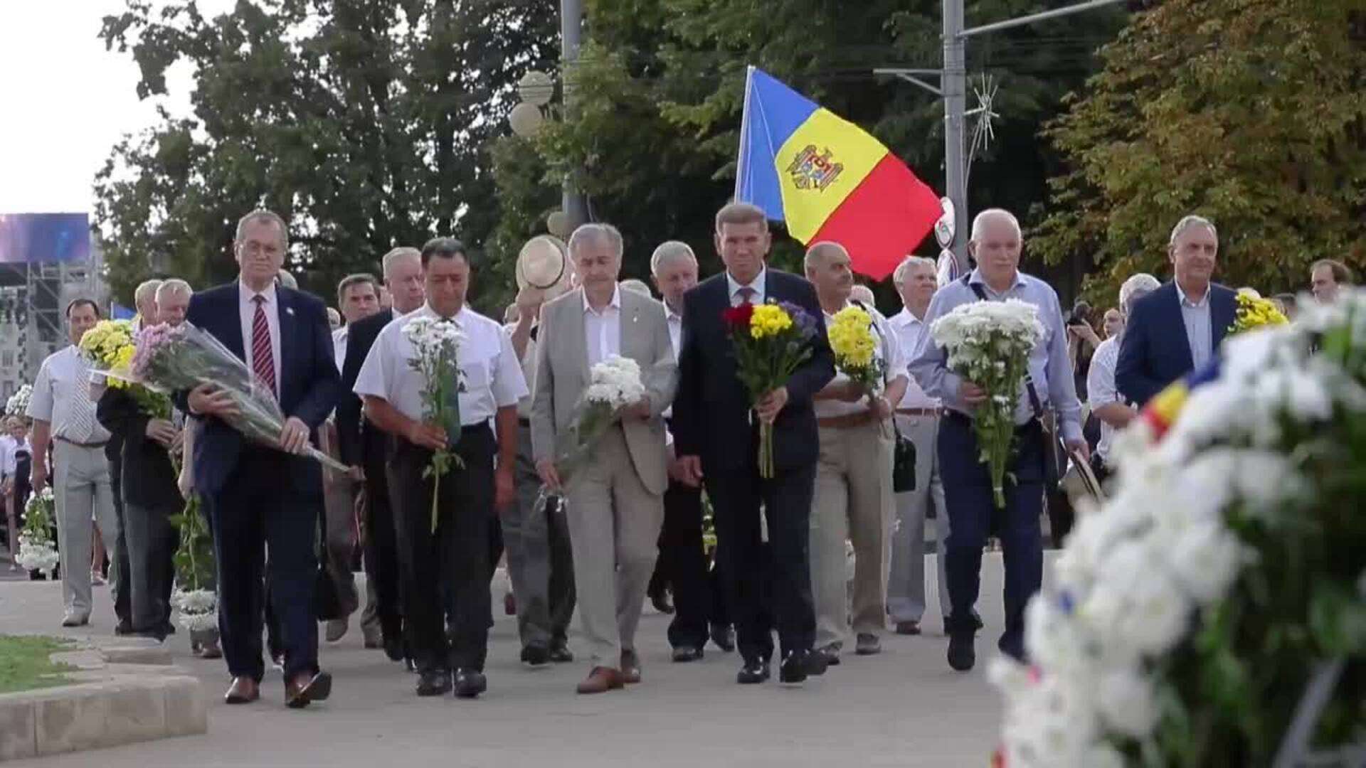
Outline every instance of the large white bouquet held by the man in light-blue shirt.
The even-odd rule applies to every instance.
[[[992,476],[996,507],[1005,508],[1005,467],[1015,440],[1015,403],[1029,374],[1029,355],[1044,339],[1034,305],[1018,299],[955,307],[930,327],[948,350],[948,368],[986,391],[973,413],[981,461]]]

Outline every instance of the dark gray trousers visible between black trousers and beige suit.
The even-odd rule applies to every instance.
[[[523,648],[563,645],[574,618],[574,553],[564,508],[538,508],[531,428],[518,426],[516,503],[499,514]],[[490,563],[492,564],[492,563]]]

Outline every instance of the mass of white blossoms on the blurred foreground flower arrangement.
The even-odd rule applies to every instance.
[[[1366,411],[1358,380],[1310,354],[1310,333],[1348,321],[1366,331],[1359,294],[1295,327],[1231,338],[1217,379],[1190,392],[1160,441],[1142,418],[1123,433],[1109,503],[1081,515],[1052,585],[1029,605],[1033,666],[996,659],[990,667],[1005,700],[1004,765],[1126,765],[1126,743],[1138,745],[1127,749],[1145,764],[1161,754],[1152,742],[1162,711],[1154,668],[1194,631],[1193,618],[1257,564],[1225,511],[1238,504],[1269,518],[1313,499],[1315,488],[1279,444],[1284,425],[1322,424],[1335,406]]]

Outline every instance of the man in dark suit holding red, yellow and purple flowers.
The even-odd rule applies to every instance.
[[[678,473],[690,484],[705,480],[716,512],[717,564],[729,589],[744,667],[740,683],[769,676],[773,637],[762,594],[772,588],[784,683],[800,683],[825,671],[825,656],[811,652],[816,614],[809,558],[811,493],[818,436],[811,396],[835,377],[825,320],[816,290],[795,275],[765,266],[772,245],[768,220],[749,204],[729,204],[716,215],[716,249],[725,272],[683,298],[679,387],[673,400]],[[750,402],[736,376],[735,353],[721,313],[740,303],[792,302],[816,323],[811,357],[785,387]],[[751,415],[753,411],[753,415]],[[758,471],[759,422],[773,424],[775,477]],[[759,510],[768,522],[764,551]],[[765,584],[769,582],[769,584]]]

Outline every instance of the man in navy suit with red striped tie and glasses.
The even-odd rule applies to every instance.
[[[276,286],[285,250],[283,219],[269,210],[243,216],[234,242],[238,280],[195,294],[186,318],[275,392],[285,415],[277,444],[251,443],[232,429],[223,418],[236,404],[213,384],[176,399],[202,422],[191,461],[219,560],[219,627],[232,674],[225,700],[260,698],[265,570],[284,648],[285,704],[302,708],[328,697],[332,676],[318,670],[313,605],[322,474],[296,454],[336,406],[340,383],[322,301]]]

